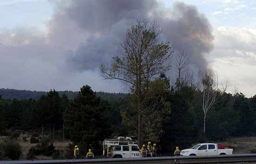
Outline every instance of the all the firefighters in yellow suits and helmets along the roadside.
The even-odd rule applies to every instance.
[[[153,147],[151,145],[151,142],[148,142],[147,148],[146,145],[142,145],[141,147],[141,156],[142,157],[156,157],[156,144],[153,144]],[[107,152],[107,158],[111,158],[113,155],[112,149],[109,146],[108,152]],[[176,147],[176,150],[174,151],[175,156],[180,156],[180,150],[179,147]],[[79,157],[79,147],[76,145],[74,149],[74,157],[78,159]],[[92,153],[92,150],[89,149],[89,152],[86,154],[87,159],[93,159],[94,154]]]

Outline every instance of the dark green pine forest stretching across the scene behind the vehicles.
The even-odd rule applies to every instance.
[[[179,91],[175,88],[177,87],[170,86],[164,95],[165,100],[171,103],[171,113],[168,114],[169,119],[158,129],[161,133],[156,142],[161,145],[162,150],[171,151],[175,145],[186,148],[196,142],[217,142],[231,136],[256,134],[256,95],[247,98],[243,93],[222,94],[218,97],[219,102],[209,112],[204,134],[204,113],[199,96],[201,91],[195,86],[185,84],[180,84]],[[123,124],[122,117],[124,112],[131,110],[131,94],[114,94],[113,97],[109,96],[107,101],[96,96],[89,86],[82,87],[81,91],[83,90],[87,90],[86,92],[92,96],[84,96],[81,92],[75,99],[68,99],[67,96],[60,97],[58,92],[51,90],[39,100],[0,98],[0,132],[6,128],[40,131],[42,125],[45,131],[49,131],[50,124],[52,128],[55,126],[56,130],[62,130],[64,118],[71,120],[67,121],[67,124],[64,121],[65,138],[71,138],[79,143],[83,141],[83,136],[86,136],[87,146],[96,142],[89,139],[90,136],[95,138],[96,133],[87,133],[88,128],[83,130],[82,127],[85,128],[87,125],[92,127],[91,132],[102,132],[101,135],[97,134],[100,138],[95,138],[96,140],[136,135]],[[94,104],[90,104],[90,101],[94,101]],[[83,120],[78,121],[79,127],[72,124],[72,121],[75,123],[77,119]],[[147,136],[146,140],[155,141],[150,136]]]

